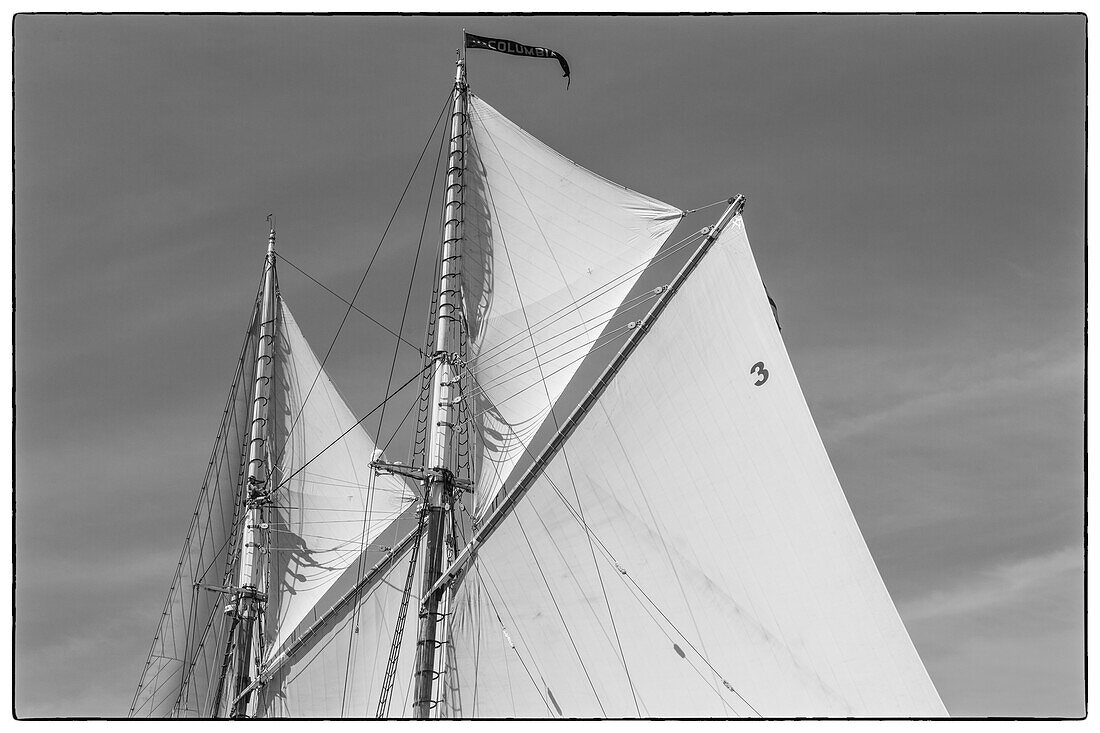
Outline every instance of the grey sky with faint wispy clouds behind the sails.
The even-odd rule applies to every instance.
[[[1082,714],[1084,15],[18,17],[16,714],[129,710],[265,217],[350,297],[463,28],[568,58],[568,90],[554,62],[469,64],[566,156],[683,208],[747,196],[803,392],[948,711]],[[414,183],[356,300],[394,329]],[[323,350],[344,306],[279,280]],[[329,366],[353,411],[392,349],[349,320]]]

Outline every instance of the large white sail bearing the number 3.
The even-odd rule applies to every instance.
[[[480,545],[452,609],[452,714],[946,714],[739,218]]]

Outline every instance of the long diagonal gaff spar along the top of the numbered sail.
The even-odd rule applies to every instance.
[[[711,247],[717,241],[718,236],[725,229],[735,217],[739,216],[741,210],[745,208],[745,197],[738,194],[734,198],[729,199],[729,205],[726,210],[718,217],[717,222],[706,230],[706,238],[698,245],[688,262],[680,269],[680,272],[669,284],[661,297],[658,298],[657,303],[653,304],[652,309],[646,315],[638,325],[635,327],[634,332],[627,338],[626,342],[623,343],[618,353],[612,360],[612,362],[604,369],[604,372],[596,379],[595,384],[588,390],[588,393],[581,401],[581,404],[570,414],[569,418],[562,423],[561,427],[554,434],[553,438],[547,444],[547,447],[535,459],[535,462],[524,472],[516,484],[510,491],[502,492],[497,494],[496,499],[487,507],[483,518],[480,523],[477,533],[471,538],[470,543],[462,548],[462,551],[455,557],[454,561],[442,572],[440,579],[437,581],[436,586],[432,587],[432,591],[438,590],[442,586],[453,581],[458,575],[462,571],[463,566],[470,561],[474,548],[485,541],[490,535],[493,534],[496,526],[507,516],[508,510],[515,506],[524,493],[531,486],[534,481],[539,477],[546,464],[557,455],[561,447],[572,435],[573,430],[584,418],[584,415],[592,408],[596,400],[603,394],[604,390],[615,378],[615,374],[622,369],[623,364],[630,357],[634,350],[645,338],[646,333],[649,331],[650,327],[660,317],[661,313],[668,306],[669,302],[675,296],[676,292],[688,280],[691,273],[695,270],[698,263],[703,260],[706,253],[711,250]]]

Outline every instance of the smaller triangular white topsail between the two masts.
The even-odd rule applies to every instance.
[[[399,477],[374,474],[374,441],[279,303],[270,416],[278,447],[277,518],[270,529],[271,654],[316,615],[320,599],[414,497]]]

